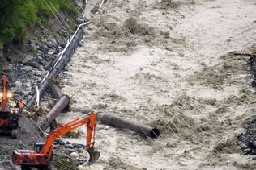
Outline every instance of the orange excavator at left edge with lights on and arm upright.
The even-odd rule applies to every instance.
[[[12,93],[8,92],[7,74],[2,73],[2,91],[0,92],[0,132],[11,134],[11,138],[16,139],[19,132],[20,110],[10,106],[9,102]]]

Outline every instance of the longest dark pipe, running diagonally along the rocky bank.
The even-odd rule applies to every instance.
[[[70,60],[70,57],[75,52],[75,48],[79,45],[79,40],[83,38],[83,28],[79,27],[79,30],[75,34],[75,37],[71,40],[70,45],[66,48],[65,52],[62,55],[62,59],[58,61],[58,63],[50,70],[49,75],[45,78],[45,81],[42,82],[41,86],[39,87],[39,97],[42,97],[46,91],[46,89],[49,88],[49,80],[55,78],[58,76],[58,74],[61,72],[62,68],[65,67],[66,63]],[[32,106],[34,106],[36,102],[36,93],[33,94],[33,96],[28,100],[26,103],[26,106],[24,107],[24,110],[30,110]]]

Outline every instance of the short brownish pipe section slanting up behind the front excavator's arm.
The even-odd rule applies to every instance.
[[[59,98],[58,102],[53,106],[53,108],[46,114],[45,121],[41,125],[41,131],[45,131],[53,122],[55,118],[57,118],[58,114],[65,109],[65,107],[70,103],[70,97],[67,95],[63,95]]]

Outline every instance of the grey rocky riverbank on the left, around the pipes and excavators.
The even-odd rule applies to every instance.
[[[3,59],[1,63],[2,71],[8,74],[9,89],[15,97],[23,99],[24,102],[27,102],[28,98],[36,92],[36,86],[41,84],[45,74],[58,60],[58,53],[66,47],[67,39],[70,39],[75,33],[76,27],[80,23],[86,22],[83,17],[74,18],[74,16],[66,15],[62,11],[60,11],[60,14],[66,21],[69,21],[69,25],[66,25],[65,22],[58,23],[59,18],[52,18],[49,19],[48,27],[29,28],[28,41],[23,45],[9,46],[1,58]],[[65,74],[60,75],[60,78],[66,78]],[[50,110],[51,105],[49,103],[53,104],[53,100],[50,94],[46,93],[45,97],[41,99],[42,112],[45,113]],[[41,137],[37,131],[38,122],[23,115],[20,125],[22,126],[22,135],[19,136],[18,141],[10,139],[8,136],[0,138],[0,162],[11,160],[14,149],[33,149],[34,143],[44,142],[45,138]],[[62,144],[60,141],[55,143],[57,149],[54,154],[65,155],[64,158],[72,159],[71,153],[79,152],[78,149],[82,150],[77,145],[68,143],[69,145],[65,145],[65,148],[69,148],[69,150],[65,151],[65,149],[62,149]],[[74,157],[74,162],[76,165],[82,164],[82,160],[85,159],[86,157]],[[6,162],[3,164],[6,164]],[[3,164],[1,163],[1,165]]]

